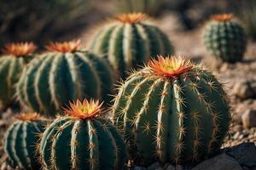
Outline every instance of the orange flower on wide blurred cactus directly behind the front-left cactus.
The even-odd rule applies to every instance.
[[[71,53],[76,51],[81,44],[80,40],[73,40],[69,42],[49,42],[45,47],[49,51],[61,52],[61,53]]]

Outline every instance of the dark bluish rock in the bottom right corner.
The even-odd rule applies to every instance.
[[[242,166],[256,166],[256,147],[253,143],[238,144],[227,150],[226,154],[235,158]]]

